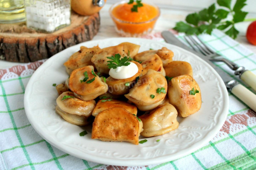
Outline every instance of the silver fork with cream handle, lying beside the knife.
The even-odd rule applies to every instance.
[[[210,61],[221,61],[224,62],[230,69],[234,70],[235,75],[239,75],[239,78],[242,79],[245,83],[247,83],[252,89],[256,91],[256,75],[252,73],[250,70],[246,70],[243,66],[238,66],[236,63],[223,58],[220,54],[212,51],[202,40],[198,38],[198,36],[184,36],[186,42],[195,50],[206,57],[209,58]]]

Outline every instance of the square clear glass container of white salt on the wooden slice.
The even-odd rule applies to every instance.
[[[70,0],[25,0],[26,24],[42,32],[70,25]]]

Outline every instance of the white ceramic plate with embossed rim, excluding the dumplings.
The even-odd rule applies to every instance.
[[[192,65],[194,79],[202,94],[202,108],[187,118],[179,118],[180,126],[162,136],[147,138],[148,142],[134,145],[128,142],[103,142],[91,139],[91,127],[72,125],[55,113],[58,97],[53,83],[63,83],[68,74],[63,63],[78,51],[81,45],[101,48],[131,42],[140,45],[140,51],[167,47],[174,52],[174,60]],[[140,38],[111,38],[89,41],[72,46],[54,55],[32,75],[26,87],[24,106],[34,129],[50,144],[60,150],[92,162],[118,166],[158,164],[186,156],[209,142],[220,130],[228,114],[228,93],[216,71],[198,56],[168,43]],[[88,134],[79,136],[87,130]],[[140,140],[144,137],[140,136]],[[156,140],[160,139],[159,142]]]

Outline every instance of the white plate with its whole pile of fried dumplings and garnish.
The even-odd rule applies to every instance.
[[[35,71],[24,96],[42,138],[72,156],[116,166],[196,151],[218,134],[228,105],[224,82],[208,63],[142,38],[69,47]]]

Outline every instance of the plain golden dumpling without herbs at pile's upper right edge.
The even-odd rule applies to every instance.
[[[193,69],[190,63],[186,61],[172,61],[164,69],[168,77],[178,77],[180,75],[190,75],[193,77]]]

